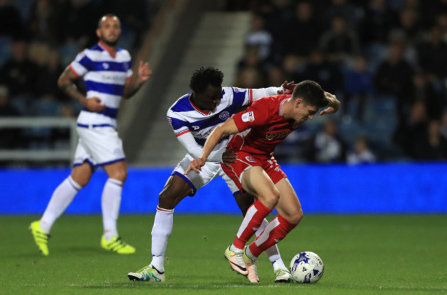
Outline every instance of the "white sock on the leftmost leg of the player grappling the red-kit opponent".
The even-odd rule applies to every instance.
[[[157,206],[152,227],[152,261],[151,265],[159,272],[164,272],[164,254],[168,239],[173,231],[174,209]]]

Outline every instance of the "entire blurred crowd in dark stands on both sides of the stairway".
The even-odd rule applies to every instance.
[[[279,160],[447,160],[447,0],[220,2],[252,16],[235,86],[310,79],[342,102],[336,116],[289,135],[275,152]],[[133,54],[158,6],[160,0],[0,0],[0,118],[75,117],[80,105],[56,81],[97,42],[98,16],[120,16],[120,46]],[[0,149],[51,148],[68,136],[0,128]]]

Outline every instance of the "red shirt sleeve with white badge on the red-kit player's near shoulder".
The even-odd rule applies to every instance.
[[[245,111],[235,114],[233,120],[239,132],[268,122],[269,109],[268,98],[261,98],[253,102]]]

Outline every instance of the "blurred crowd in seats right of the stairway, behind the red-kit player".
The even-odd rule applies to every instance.
[[[447,160],[447,0],[247,0],[236,85],[316,80],[342,101],[279,146],[281,160]]]

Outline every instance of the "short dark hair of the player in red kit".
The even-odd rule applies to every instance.
[[[325,107],[329,101],[320,84],[312,80],[304,80],[298,83],[292,93],[292,98],[303,98],[306,105],[313,105],[318,109]]]

